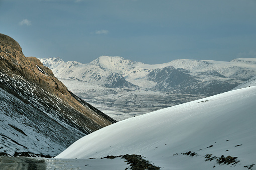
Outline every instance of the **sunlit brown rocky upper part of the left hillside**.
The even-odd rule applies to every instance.
[[[97,116],[97,114],[92,116],[92,110],[84,107],[83,104],[77,101],[77,99],[70,94],[65,85],[53,75],[48,67],[43,66],[39,59],[35,57],[25,57],[19,43],[14,39],[0,34],[0,42],[0,55],[4,58],[4,61],[0,62],[0,71],[5,70],[9,75],[13,73],[37,84],[45,91],[58,96],[96,123],[101,124],[102,127],[116,122],[107,115],[104,115],[104,117],[108,120],[102,119],[101,116]]]

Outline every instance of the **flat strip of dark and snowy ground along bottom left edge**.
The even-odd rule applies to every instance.
[[[130,163],[122,157],[89,158],[89,159],[57,159],[31,157],[1,157],[0,169],[5,170],[54,170],[54,169],[131,169]],[[152,168],[153,169],[153,168]],[[158,169],[158,168],[156,168]]]

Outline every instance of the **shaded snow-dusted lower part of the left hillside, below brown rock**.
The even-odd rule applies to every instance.
[[[44,98],[46,102],[52,99],[54,104],[59,102],[56,107],[63,108],[60,99],[48,95],[49,98]],[[31,100],[34,99],[40,100],[31,98]],[[57,111],[44,107],[40,101],[36,100],[31,101],[32,104],[0,88],[0,152],[2,155],[18,156],[28,152],[32,154],[25,154],[26,156],[34,154],[54,156],[75,139],[86,135],[86,131],[79,129],[74,122],[61,121],[62,117]]]

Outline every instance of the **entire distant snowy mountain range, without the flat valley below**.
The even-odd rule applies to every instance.
[[[101,56],[88,63],[41,59],[58,78],[77,78],[111,88],[146,88],[180,93],[214,95],[228,91],[256,75],[253,59],[231,62],[174,60],[148,65],[122,57]],[[220,88],[223,87],[223,88]]]

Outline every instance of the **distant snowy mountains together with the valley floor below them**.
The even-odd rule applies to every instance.
[[[116,120],[223,93],[256,75],[256,59],[149,65],[101,56],[82,64],[43,58],[70,91]]]

